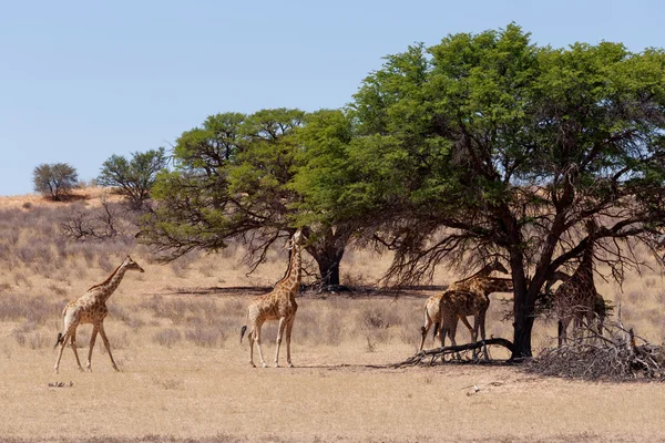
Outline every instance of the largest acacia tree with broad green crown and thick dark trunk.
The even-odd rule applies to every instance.
[[[389,55],[364,81],[350,110],[359,136],[310,186],[368,213],[367,230],[396,250],[395,284],[503,257],[512,357],[529,357],[535,300],[555,270],[594,241],[621,279],[640,266],[635,243],[663,231],[664,106],[662,50],[542,48],[514,24],[449,35]],[[331,186],[339,171],[352,181]]]

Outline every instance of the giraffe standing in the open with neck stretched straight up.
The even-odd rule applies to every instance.
[[[304,243],[303,231],[298,229],[290,239],[290,258],[288,269],[285,277],[279,280],[275,288],[264,296],[257,297],[247,307],[247,320],[252,329],[249,330],[249,364],[254,364],[254,342],[258,348],[258,357],[264,368],[267,367],[263,351],[260,349],[260,329],[266,320],[279,320],[277,329],[277,349],[275,351],[275,368],[279,368],[279,347],[282,344],[282,336],[285,334],[286,330],[286,361],[289,368],[293,368],[290,359],[290,337],[294,327],[294,320],[296,311],[298,310],[298,303],[296,303],[296,295],[300,288],[300,271],[301,271],[301,258],[300,249]],[[241,330],[241,342],[247,326],[243,326]]]

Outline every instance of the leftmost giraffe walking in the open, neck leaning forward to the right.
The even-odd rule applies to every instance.
[[[83,367],[81,367],[81,361],[79,360],[79,352],[76,351],[76,328],[82,323],[92,323],[92,336],[90,337],[90,349],[88,350],[88,370],[92,371],[92,349],[94,348],[98,332],[102,336],[113,369],[116,371],[119,370],[113,360],[113,354],[111,354],[111,347],[109,344],[109,339],[106,338],[106,332],[104,331],[104,318],[109,313],[106,300],[117,288],[127,270],[144,272],[143,268],[127,256],[109,278],[103,282],[91,287],[81,298],[70,301],[64,307],[64,310],[62,311],[63,332],[58,333],[58,341],[55,342],[55,347],[60,344],[60,352],[58,352],[58,360],[55,360],[55,373],[58,373],[62,351],[64,350],[68,340],[71,341],[79,370],[83,371]]]

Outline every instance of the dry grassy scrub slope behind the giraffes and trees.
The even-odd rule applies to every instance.
[[[130,343],[166,349],[235,347],[248,297],[268,291],[286,267],[286,250],[275,249],[267,264],[247,274],[249,268],[242,265],[241,244],[221,254],[191,253],[162,264],[136,241],[131,220],[119,220],[124,222],[126,231],[112,238],[75,241],[63,235],[62,226],[76,214],[93,216],[102,210],[102,198],[112,198],[104,188],[85,188],[79,194],[88,197],[68,204],[30,203],[0,209],[0,260],[6,264],[0,277],[0,321],[6,327],[11,324],[9,337],[14,344],[33,350],[52,347],[64,305],[103,281],[131,254],[147,271],[127,277],[109,302],[114,348]],[[385,292],[376,282],[389,262],[389,256],[349,251],[341,267],[342,282],[351,288],[349,292],[308,291],[306,278],[296,340],[334,347],[356,342],[367,352],[391,343],[415,350],[426,297],[459,276],[441,269],[432,282],[438,286]],[[305,266],[314,267],[308,257]],[[623,288],[600,281],[598,290],[621,306],[625,323],[659,343],[665,337],[662,282],[657,274],[635,275]],[[488,333],[510,339],[511,295],[495,293],[492,300]],[[554,322],[543,320],[538,328],[539,347],[550,346]],[[270,340],[274,328],[268,324],[267,331],[265,341]],[[467,334],[463,330],[460,333]],[[89,331],[82,327],[79,346],[85,347],[88,338]],[[430,338],[427,343],[431,346]],[[9,346],[7,340],[4,346]]]

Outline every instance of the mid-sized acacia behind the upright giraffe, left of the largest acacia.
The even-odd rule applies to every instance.
[[[195,248],[217,250],[242,237],[255,269],[275,241],[306,223],[293,183],[304,161],[296,136],[304,119],[304,112],[286,109],[226,113],[183,133],[174,150],[175,169],[157,179],[158,205],[143,239],[173,259]],[[306,234],[306,250],[319,266],[321,282],[338,285],[350,230],[319,223]]]

